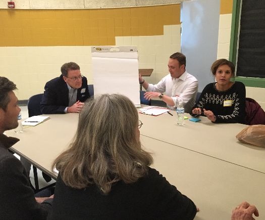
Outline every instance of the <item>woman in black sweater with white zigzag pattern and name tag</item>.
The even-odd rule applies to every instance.
[[[235,76],[235,65],[226,59],[220,59],[213,63],[211,72],[216,77],[216,82],[205,86],[192,109],[192,115],[206,116],[212,122],[244,123],[245,85],[230,81]]]

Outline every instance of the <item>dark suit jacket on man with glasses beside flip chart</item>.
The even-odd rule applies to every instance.
[[[69,104],[69,90],[63,79],[63,75],[48,81],[45,84],[44,90],[44,95],[40,103],[42,114],[64,114],[64,110]],[[87,79],[83,77],[82,86],[77,90],[76,101],[84,102],[89,97]]]

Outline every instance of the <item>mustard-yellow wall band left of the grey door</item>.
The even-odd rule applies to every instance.
[[[117,9],[0,10],[0,47],[115,45],[115,36],[163,35],[180,4]]]

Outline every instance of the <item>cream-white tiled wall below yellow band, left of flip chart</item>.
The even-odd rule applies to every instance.
[[[66,62],[76,62],[93,83],[90,47],[0,47],[1,76],[18,87],[19,100],[42,93],[45,83],[61,74]]]

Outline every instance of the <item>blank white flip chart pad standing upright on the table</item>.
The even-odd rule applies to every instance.
[[[112,51],[115,48],[119,51]],[[136,46],[91,47],[94,95],[118,93],[140,105]]]

